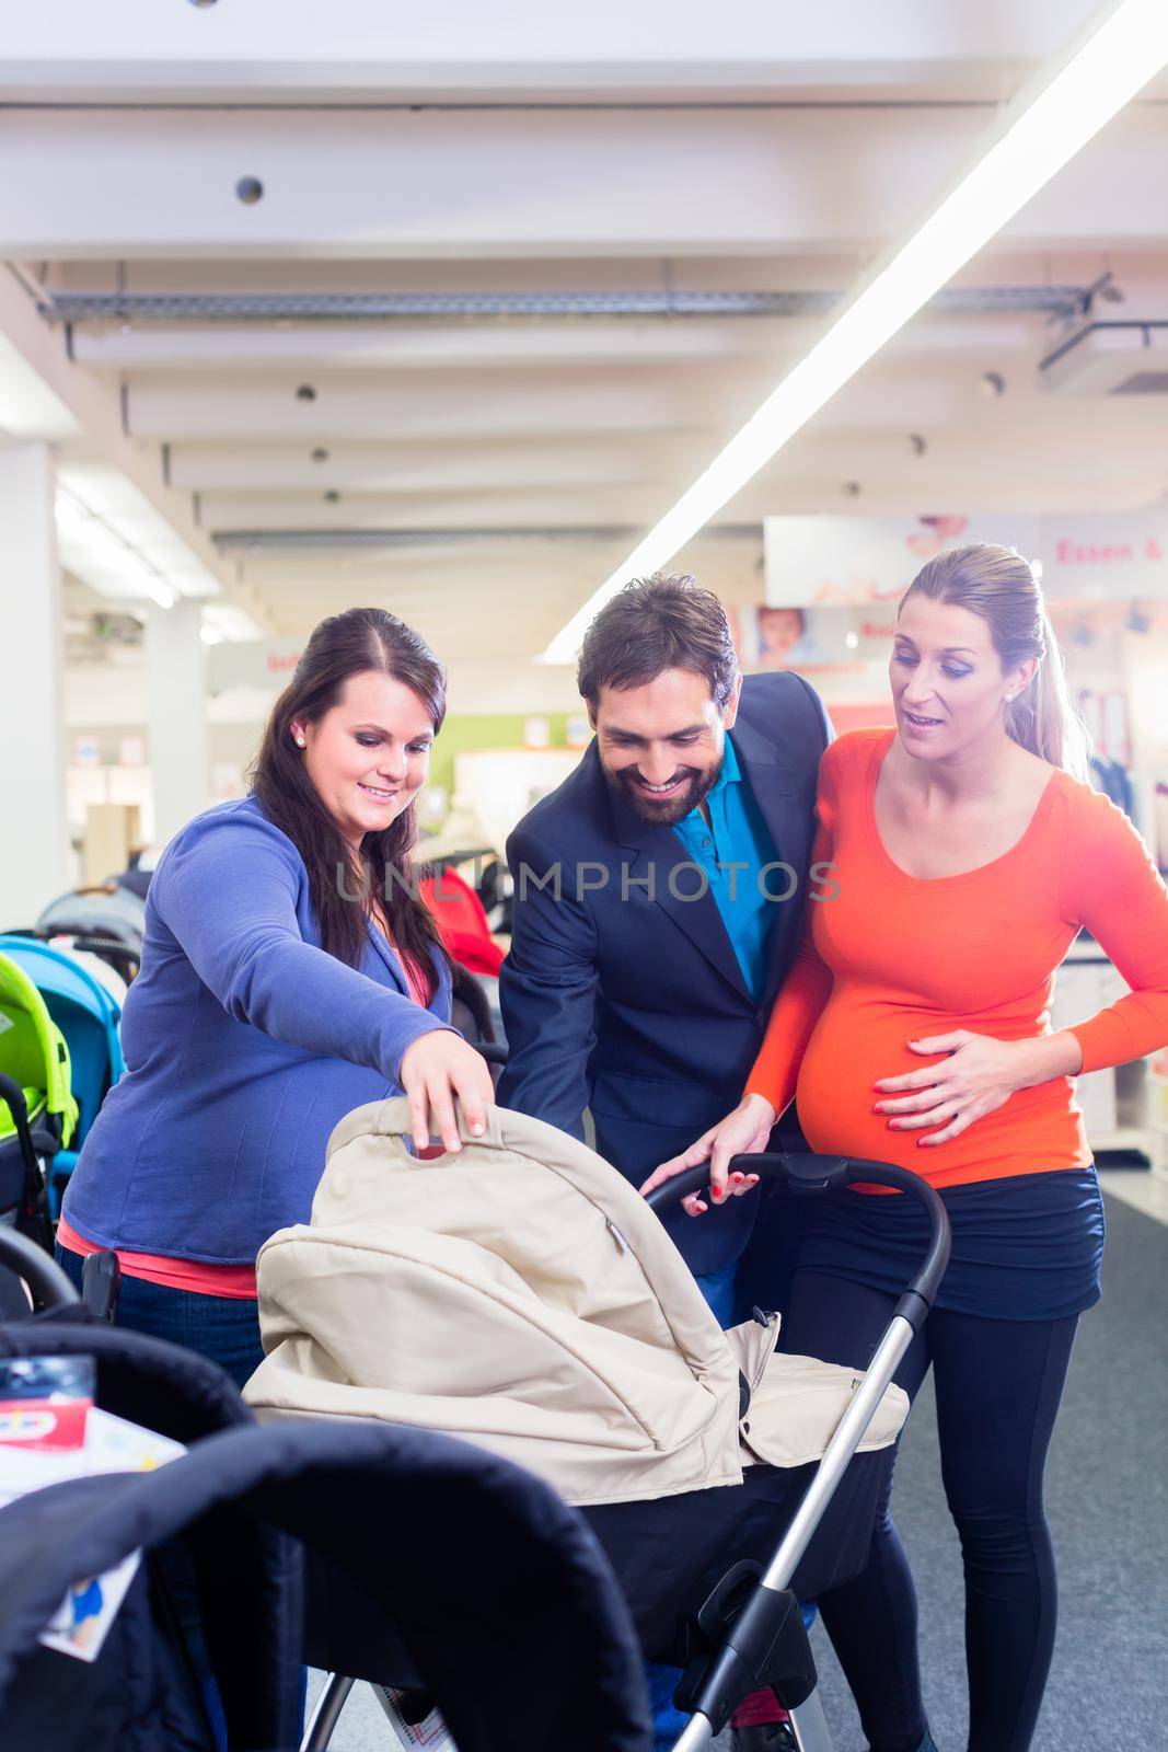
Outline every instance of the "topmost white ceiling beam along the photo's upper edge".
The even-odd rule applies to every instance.
[[[772,96],[902,91],[940,84],[998,100],[1051,54],[1091,0],[1010,7],[919,0],[834,0],[830,7],[723,0],[594,0],[583,12],[541,0],[483,7],[441,0],[387,7],[331,0],[327,42],[313,0],[159,5],[159,0],[56,0],[5,19],[0,95],[109,102],[172,98],[375,102],[660,93]]]

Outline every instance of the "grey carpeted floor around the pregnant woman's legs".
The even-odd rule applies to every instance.
[[[1107,1216],[1103,1302],[1079,1330],[1047,1472],[1061,1614],[1031,1752],[1168,1748],[1168,1228],[1117,1198],[1107,1200]],[[921,1601],[933,1734],[940,1752],[963,1752],[961,1559],[940,1487],[928,1386],[905,1435],[897,1521]],[[856,1712],[821,1629],[814,1642],[837,1752],[862,1752]],[[391,1745],[371,1692],[357,1687],[333,1747],[389,1752]],[[728,1734],[718,1747],[728,1748]]]

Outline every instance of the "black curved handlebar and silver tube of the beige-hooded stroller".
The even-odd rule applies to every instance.
[[[837,1191],[858,1183],[891,1186],[925,1204],[930,1233],[925,1258],[905,1286],[893,1318],[863,1374],[863,1381],[841,1417],[804,1493],[804,1500],[795,1510],[792,1524],[765,1572],[760,1575],[751,1598],[734,1621],[725,1645],[709,1666],[697,1708],[685,1733],[676,1741],[674,1752],[702,1752],[713,1741],[728,1713],[725,1708],[727,1696],[735,1687],[741,1689],[741,1677],[744,1670],[751,1670],[749,1663],[758,1661],[760,1654],[765,1654],[774,1638],[776,1619],[785,1610],[781,1596],[790,1587],[799,1559],[806,1552],[835,1494],[835,1487],[860,1447],[876,1409],[897,1374],[900,1360],[928,1319],[940,1279],[949,1263],[949,1216],[946,1207],[937,1190],[928,1181],[923,1181],[919,1174],[912,1174],[911,1169],[893,1167],[886,1162],[860,1162],[851,1156],[813,1155],[734,1156],[730,1167],[744,1174],[758,1174],[762,1179],[785,1179],[793,1191],[807,1195]],[[671,1204],[674,1198],[686,1198],[690,1193],[706,1190],[707,1183],[707,1167],[686,1169],[650,1193],[646,1204],[660,1211],[662,1205]],[[830,1752],[832,1736],[823,1717],[818,1691],[813,1691],[790,1715],[800,1752]]]

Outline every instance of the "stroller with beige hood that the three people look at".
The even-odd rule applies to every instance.
[[[890,1382],[947,1263],[937,1195],[881,1163],[749,1158],[802,1191],[872,1181],[928,1204],[928,1258],[856,1375],[776,1354],[777,1316],[723,1333],[648,1204],[552,1127],[494,1109],[483,1139],[464,1130],[459,1155],[419,1160],[408,1125],[403,1100],[348,1114],[312,1225],[261,1249],[266,1358],[249,1403],[443,1430],[520,1461],[583,1510],[644,1656],[685,1668],[678,1752],[762,1685],[804,1752],[827,1752],[797,1600],[865,1561],[907,1416]],[[333,1631],[312,1748],[354,1673],[392,1682],[343,1612]]]

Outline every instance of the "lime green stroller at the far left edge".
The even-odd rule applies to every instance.
[[[53,1244],[46,1165],[75,1128],[65,1035],[25,969],[0,953],[0,1225],[40,1246]]]

